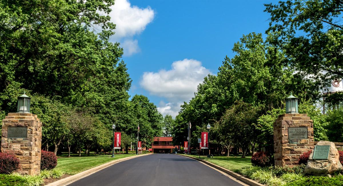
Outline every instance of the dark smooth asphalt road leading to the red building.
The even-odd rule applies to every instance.
[[[196,160],[152,154],[122,161],[68,186],[242,186]]]

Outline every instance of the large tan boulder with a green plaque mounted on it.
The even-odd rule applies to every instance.
[[[339,153],[338,150],[335,147],[335,144],[330,141],[319,141],[317,143],[318,145],[329,145],[330,151],[329,151],[329,158],[326,159],[313,159],[313,153],[310,154],[308,157],[307,165],[305,167],[305,170],[303,171],[303,174],[311,174],[311,175],[328,175],[333,174],[334,172],[338,170],[342,170],[342,164],[339,160]]]

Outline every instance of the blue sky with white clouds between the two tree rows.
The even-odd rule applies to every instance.
[[[270,15],[264,0],[116,0],[109,14],[113,42],[124,48],[132,79],[129,94],[149,97],[176,116],[207,74],[216,74],[243,34],[264,33]]]

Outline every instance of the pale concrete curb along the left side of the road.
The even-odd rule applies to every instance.
[[[149,153],[149,154],[153,154],[153,153]],[[114,160],[114,161],[111,161],[111,162],[108,162],[108,163],[105,163],[105,164],[102,164],[102,165],[99,165],[97,167],[94,167],[94,168],[91,168],[91,169],[88,169],[86,171],[83,171],[83,172],[80,172],[78,174],[74,174],[72,176],[68,176],[66,178],[63,178],[63,179],[60,179],[60,180],[57,180],[56,182],[52,182],[52,183],[49,183],[48,185],[45,185],[45,186],[65,186],[65,185],[68,185],[68,184],[71,184],[81,178],[84,178],[86,176],[89,176],[93,173],[96,173],[104,168],[107,168],[111,165],[114,165],[118,162],[121,162],[121,161],[125,161],[125,160],[129,160],[129,159],[132,159],[132,158],[137,158],[137,157],[140,157],[140,156],[145,156],[145,155],[149,155],[149,154],[142,154],[142,155],[138,155],[138,156],[130,156],[130,157],[127,157],[127,158],[122,158],[122,159],[119,159],[119,160]]]

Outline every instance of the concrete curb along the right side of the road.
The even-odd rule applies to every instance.
[[[182,155],[182,154],[177,154],[177,155],[185,156],[185,157],[188,157],[188,158],[191,158],[191,159],[194,159],[194,160],[201,161],[201,162],[203,162],[203,163],[205,163],[205,164],[207,164],[207,165],[209,165],[209,166],[211,166],[211,167],[214,167],[214,168],[216,168],[216,169],[218,169],[218,170],[220,170],[220,171],[225,172],[226,174],[228,174],[228,175],[230,175],[230,176],[232,176],[232,177],[234,177],[234,178],[236,178],[236,179],[239,179],[241,182],[244,182],[244,183],[246,183],[246,184],[248,184],[248,185],[251,185],[251,186],[265,186],[265,185],[260,184],[260,183],[258,183],[258,182],[256,182],[256,181],[253,181],[253,180],[251,180],[251,179],[249,179],[249,178],[247,178],[247,177],[244,177],[244,176],[242,176],[242,175],[240,175],[240,174],[237,174],[237,173],[235,173],[235,172],[233,172],[233,171],[230,171],[230,170],[228,170],[228,169],[226,169],[226,168],[223,168],[223,167],[221,167],[221,166],[218,166],[218,165],[215,165],[215,164],[213,164],[213,163],[211,163],[211,162],[208,162],[208,161],[206,161],[206,160],[202,160],[202,159],[199,159],[199,158],[194,158],[194,157],[186,156],[186,155]]]

